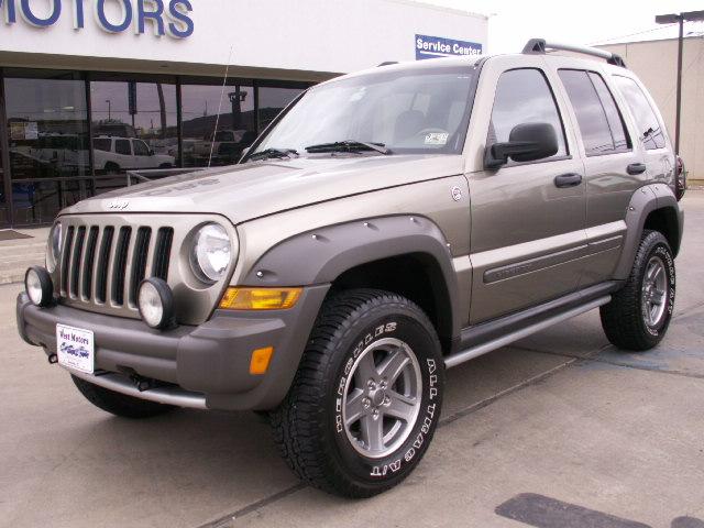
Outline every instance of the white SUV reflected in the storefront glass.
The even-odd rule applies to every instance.
[[[92,140],[94,160],[97,170],[118,173],[132,168],[172,168],[174,156],[155,154],[150,146],[136,138],[111,138],[99,135]]]

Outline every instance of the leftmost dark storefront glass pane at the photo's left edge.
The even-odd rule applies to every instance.
[[[47,223],[90,175],[85,82],[77,73],[4,78],[14,223]]]

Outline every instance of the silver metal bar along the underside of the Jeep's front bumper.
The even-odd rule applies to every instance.
[[[190,409],[207,409],[206,397],[200,393],[190,393],[177,387],[155,387],[146,391],[140,391],[136,385],[129,378],[120,374],[86,374],[72,369],[66,369],[74,376],[80,377],[88,383],[98,385],[99,387],[114,391],[116,393],[132,396],[139,399],[148,399],[157,404],[174,405],[176,407],[188,407]]]

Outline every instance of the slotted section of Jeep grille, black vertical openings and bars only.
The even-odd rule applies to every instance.
[[[173,239],[169,227],[69,223],[59,266],[61,296],[135,310],[142,279],[168,279]]]

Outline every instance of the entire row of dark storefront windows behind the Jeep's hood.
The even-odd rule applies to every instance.
[[[233,78],[223,91],[221,79],[185,78],[179,112],[176,77],[2,74],[0,226],[50,223],[65,207],[125,186],[128,170],[235,164],[305,86]]]

